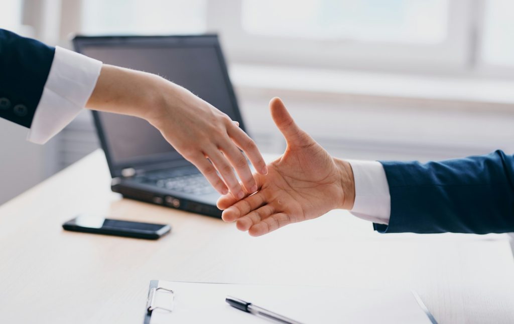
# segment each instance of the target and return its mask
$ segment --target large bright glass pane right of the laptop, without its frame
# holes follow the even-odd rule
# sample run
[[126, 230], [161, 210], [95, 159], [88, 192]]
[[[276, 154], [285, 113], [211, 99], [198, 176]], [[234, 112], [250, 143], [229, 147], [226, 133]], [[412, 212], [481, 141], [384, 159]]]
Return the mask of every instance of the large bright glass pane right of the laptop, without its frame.
[[255, 35], [437, 44], [446, 39], [449, 0], [243, 0], [243, 28]]

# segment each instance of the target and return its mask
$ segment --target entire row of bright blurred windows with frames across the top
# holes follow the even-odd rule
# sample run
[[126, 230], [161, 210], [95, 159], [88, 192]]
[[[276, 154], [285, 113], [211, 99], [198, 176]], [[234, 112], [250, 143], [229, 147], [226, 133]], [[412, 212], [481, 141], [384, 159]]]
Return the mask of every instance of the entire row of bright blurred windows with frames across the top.
[[512, 22], [511, 0], [3, 0], [0, 10], [0, 27], [64, 46], [72, 33], [217, 32], [230, 63], [506, 77]]

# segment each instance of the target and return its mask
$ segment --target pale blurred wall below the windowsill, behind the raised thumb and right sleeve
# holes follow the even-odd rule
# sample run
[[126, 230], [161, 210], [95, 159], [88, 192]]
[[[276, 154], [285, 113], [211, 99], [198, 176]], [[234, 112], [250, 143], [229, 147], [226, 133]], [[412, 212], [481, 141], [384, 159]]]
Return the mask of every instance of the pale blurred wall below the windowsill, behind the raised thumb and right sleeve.
[[[283, 151], [267, 103], [281, 96], [297, 123], [333, 155], [352, 159], [437, 160], [514, 152], [514, 106], [238, 89], [248, 131]], [[480, 106], [480, 105], [478, 105]]]

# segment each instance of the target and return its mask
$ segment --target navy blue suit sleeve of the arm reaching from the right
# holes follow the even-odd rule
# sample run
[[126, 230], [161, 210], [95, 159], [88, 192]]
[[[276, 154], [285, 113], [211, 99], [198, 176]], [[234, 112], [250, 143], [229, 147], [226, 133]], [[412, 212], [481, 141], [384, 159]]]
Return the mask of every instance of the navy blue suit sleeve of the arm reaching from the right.
[[514, 156], [502, 151], [439, 162], [380, 161], [391, 194], [382, 233], [514, 232]]

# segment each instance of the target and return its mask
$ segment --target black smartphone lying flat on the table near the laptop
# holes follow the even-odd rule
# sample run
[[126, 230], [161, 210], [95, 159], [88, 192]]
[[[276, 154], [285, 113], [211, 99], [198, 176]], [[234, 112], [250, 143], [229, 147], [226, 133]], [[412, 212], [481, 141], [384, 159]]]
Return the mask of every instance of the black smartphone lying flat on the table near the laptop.
[[158, 239], [171, 231], [169, 225], [80, 215], [63, 224], [67, 231]]

